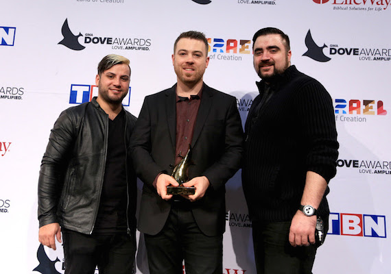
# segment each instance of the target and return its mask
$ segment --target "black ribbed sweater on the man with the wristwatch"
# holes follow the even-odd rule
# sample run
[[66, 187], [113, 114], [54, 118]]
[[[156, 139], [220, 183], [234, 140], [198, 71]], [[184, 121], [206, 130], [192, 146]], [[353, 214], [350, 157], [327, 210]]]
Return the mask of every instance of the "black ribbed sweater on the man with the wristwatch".
[[[263, 94], [265, 84], [257, 83]], [[257, 118], [254, 99], [246, 121], [242, 182], [253, 221], [290, 221], [300, 205], [307, 171], [335, 176], [337, 132], [333, 103], [316, 79], [290, 66]], [[318, 212], [327, 218], [326, 195]]]

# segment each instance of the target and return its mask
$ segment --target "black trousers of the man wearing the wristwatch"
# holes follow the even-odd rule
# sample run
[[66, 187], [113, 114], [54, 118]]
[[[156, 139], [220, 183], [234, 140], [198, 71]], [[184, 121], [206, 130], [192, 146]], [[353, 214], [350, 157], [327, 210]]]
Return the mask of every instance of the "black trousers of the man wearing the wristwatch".
[[[311, 274], [316, 247], [289, 244], [291, 222], [252, 223], [258, 274]], [[327, 231], [327, 230], [325, 230]]]

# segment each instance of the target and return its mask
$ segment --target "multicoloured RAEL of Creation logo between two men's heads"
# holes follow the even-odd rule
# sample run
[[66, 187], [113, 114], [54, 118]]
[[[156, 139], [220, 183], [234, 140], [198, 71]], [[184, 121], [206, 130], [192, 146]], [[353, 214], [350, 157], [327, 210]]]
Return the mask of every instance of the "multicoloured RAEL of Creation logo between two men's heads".
[[207, 38], [211, 60], [241, 61], [242, 56], [252, 53], [251, 40]]

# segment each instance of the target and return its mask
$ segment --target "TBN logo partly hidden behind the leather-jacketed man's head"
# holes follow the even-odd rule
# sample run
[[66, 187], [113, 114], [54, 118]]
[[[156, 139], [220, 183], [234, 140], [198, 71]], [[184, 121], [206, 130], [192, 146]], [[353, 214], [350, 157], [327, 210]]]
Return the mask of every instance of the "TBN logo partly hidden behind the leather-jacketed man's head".
[[[125, 98], [122, 100], [122, 105], [130, 105], [130, 90]], [[95, 85], [80, 85], [80, 84], [71, 84], [71, 92], [69, 96], [69, 103], [86, 103], [93, 99], [93, 97], [98, 95], [98, 87]]]

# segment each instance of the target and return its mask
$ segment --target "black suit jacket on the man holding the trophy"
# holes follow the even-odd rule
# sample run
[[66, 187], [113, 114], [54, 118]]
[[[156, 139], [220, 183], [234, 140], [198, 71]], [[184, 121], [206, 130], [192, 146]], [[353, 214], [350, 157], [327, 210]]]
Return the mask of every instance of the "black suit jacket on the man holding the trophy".
[[[243, 129], [236, 99], [223, 92], [202, 88], [202, 99], [195, 121], [193, 164], [189, 178], [206, 176], [210, 186], [202, 199], [191, 203], [201, 231], [208, 236], [225, 230], [225, 183], [239, 169]], [[134, 168], [143, 181], [139, 230], [155, 235], [161, 231], [171, 209], [153, 186], [159, 173], [171, 174], [176, 148], [176, 85], [145, 97], [132, 134]]]

